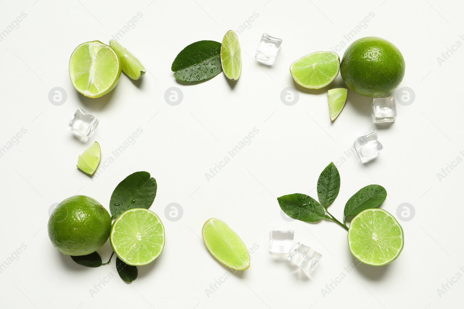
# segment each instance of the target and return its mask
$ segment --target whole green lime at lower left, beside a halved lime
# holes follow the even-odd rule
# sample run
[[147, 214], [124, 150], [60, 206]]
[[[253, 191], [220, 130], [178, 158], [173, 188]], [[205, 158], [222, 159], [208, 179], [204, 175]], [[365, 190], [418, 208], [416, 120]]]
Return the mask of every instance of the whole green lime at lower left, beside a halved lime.
[[48, 237], [64, 254], [86, 255], [105, 244], [110, 228], [110, 214], [99, 202], [74, 195], [59, 203], [50, 216]]

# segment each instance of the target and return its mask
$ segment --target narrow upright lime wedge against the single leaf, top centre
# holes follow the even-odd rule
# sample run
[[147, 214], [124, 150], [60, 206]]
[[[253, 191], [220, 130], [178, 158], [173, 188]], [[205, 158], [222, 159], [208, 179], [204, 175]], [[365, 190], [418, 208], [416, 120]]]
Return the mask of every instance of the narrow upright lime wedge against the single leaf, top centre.
[[232, 30], [229, 30], [222, 39], [221, 65], [228, 79], [238, 80], [242, 72], [242, 52], [237, 34]]

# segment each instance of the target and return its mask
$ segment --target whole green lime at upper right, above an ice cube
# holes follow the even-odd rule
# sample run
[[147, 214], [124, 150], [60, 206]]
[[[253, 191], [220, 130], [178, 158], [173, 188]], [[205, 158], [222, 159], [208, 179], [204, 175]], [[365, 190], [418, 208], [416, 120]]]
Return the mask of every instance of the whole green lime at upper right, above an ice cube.
[[345, 50], [340, 74], [347, 86], [360, 95], [386, 95], [403, 80], [405, 59], [386, 39], [360, 38]]

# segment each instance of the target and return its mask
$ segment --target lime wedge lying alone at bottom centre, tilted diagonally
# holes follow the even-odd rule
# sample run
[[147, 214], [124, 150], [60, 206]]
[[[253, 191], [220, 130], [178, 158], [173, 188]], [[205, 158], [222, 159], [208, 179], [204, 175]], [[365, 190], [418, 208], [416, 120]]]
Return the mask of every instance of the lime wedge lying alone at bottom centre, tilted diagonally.
[[208, 251], [222, 264], [242, 271], [250, 267], [250, 254], [243, 241], [224, 222], [211, 218], [201, 231]]

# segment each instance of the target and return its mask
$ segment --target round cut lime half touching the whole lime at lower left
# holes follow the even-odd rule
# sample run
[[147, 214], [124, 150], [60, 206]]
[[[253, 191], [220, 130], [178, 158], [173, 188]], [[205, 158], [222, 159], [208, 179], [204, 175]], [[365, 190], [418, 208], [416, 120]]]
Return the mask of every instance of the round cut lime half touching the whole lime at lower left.
[[110, 243], [127, 265], [147, 265], [163, 251], [164, 227], [154, 212], [145, 208], [129, 209], [114, 221]]

